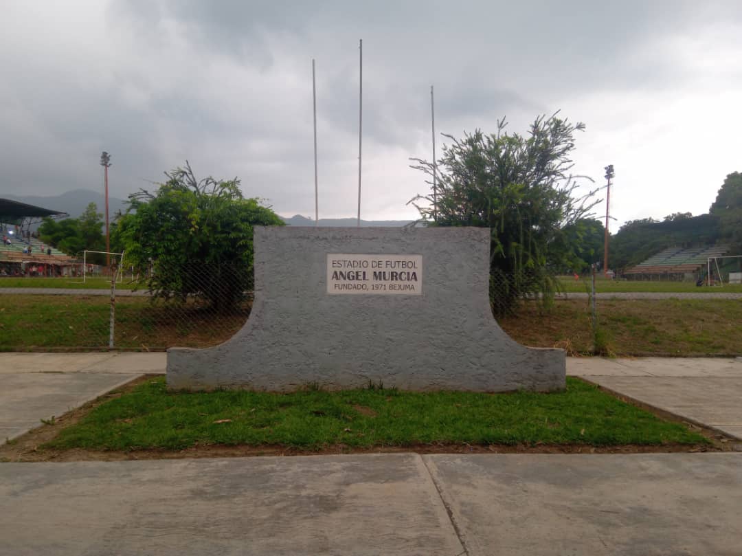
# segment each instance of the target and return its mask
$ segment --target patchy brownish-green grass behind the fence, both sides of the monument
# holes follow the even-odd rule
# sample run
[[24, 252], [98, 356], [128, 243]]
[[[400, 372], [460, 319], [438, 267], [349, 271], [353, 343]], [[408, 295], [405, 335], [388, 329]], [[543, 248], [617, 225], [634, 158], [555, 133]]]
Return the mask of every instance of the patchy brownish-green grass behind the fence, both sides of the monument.
[[[79, 350], [108, 346], [106, 295], [0, 295], [0, 350]], [[600, 299], [600, 327], [618, 356], [742, 354], [742, 300]], [[231, 338], [249, 315], [249, 302], [229, 315], [198, 304], [116, 301], [114, 346], [152, 350], [207, 347]], [[584, 299], [555, 301], [548, 310], [528, 301], [499, 318], [512, 338], [532, 347], [592, 348], [590, 307]]]

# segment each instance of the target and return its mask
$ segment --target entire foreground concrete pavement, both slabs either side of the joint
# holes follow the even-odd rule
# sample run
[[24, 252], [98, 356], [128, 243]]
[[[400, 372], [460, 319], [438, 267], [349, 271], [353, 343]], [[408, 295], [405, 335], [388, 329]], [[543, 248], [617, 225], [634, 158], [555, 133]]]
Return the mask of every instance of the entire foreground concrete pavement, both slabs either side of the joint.
[[0, 555], [740, 555], [742, 454], [0, 465]]

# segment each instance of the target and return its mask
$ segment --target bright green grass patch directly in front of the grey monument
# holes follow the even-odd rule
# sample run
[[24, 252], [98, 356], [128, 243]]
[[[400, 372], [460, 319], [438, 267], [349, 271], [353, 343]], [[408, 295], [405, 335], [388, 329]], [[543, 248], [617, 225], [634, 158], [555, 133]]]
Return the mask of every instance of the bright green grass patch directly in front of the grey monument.
[[579, 379], [562, 393], [414, 393], [363, 388], [294, 393], [171, 393], [151, 379], [94, 408], [43, 448], [128, 451], [196, 445], [281, 445], [316, 450], [420, 444], [701, 445], [665, 422]]

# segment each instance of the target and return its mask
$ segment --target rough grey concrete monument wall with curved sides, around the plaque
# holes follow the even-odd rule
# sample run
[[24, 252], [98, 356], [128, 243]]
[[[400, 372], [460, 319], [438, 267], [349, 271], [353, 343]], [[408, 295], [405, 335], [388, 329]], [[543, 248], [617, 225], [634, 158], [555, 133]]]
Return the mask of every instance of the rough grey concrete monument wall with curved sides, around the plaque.
[[[168, 350], [168, 387], [559, 390], [562, 350], [523, 347], [488, 300], [489, 231], [255, 229], [255, 303], [229, 341]], [[329, 295], [327, 255], [421, 255], [422, 295]]]

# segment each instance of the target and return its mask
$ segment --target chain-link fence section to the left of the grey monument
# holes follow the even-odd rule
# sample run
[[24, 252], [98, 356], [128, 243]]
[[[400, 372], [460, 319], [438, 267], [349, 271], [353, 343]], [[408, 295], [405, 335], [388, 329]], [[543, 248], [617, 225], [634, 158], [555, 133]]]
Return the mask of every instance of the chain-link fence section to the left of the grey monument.
[[155, 264], [116, 275], [5, 290], [0, 349], [208, 347], [234, 336], [252, 307], [252, 272], [229, 264]]

